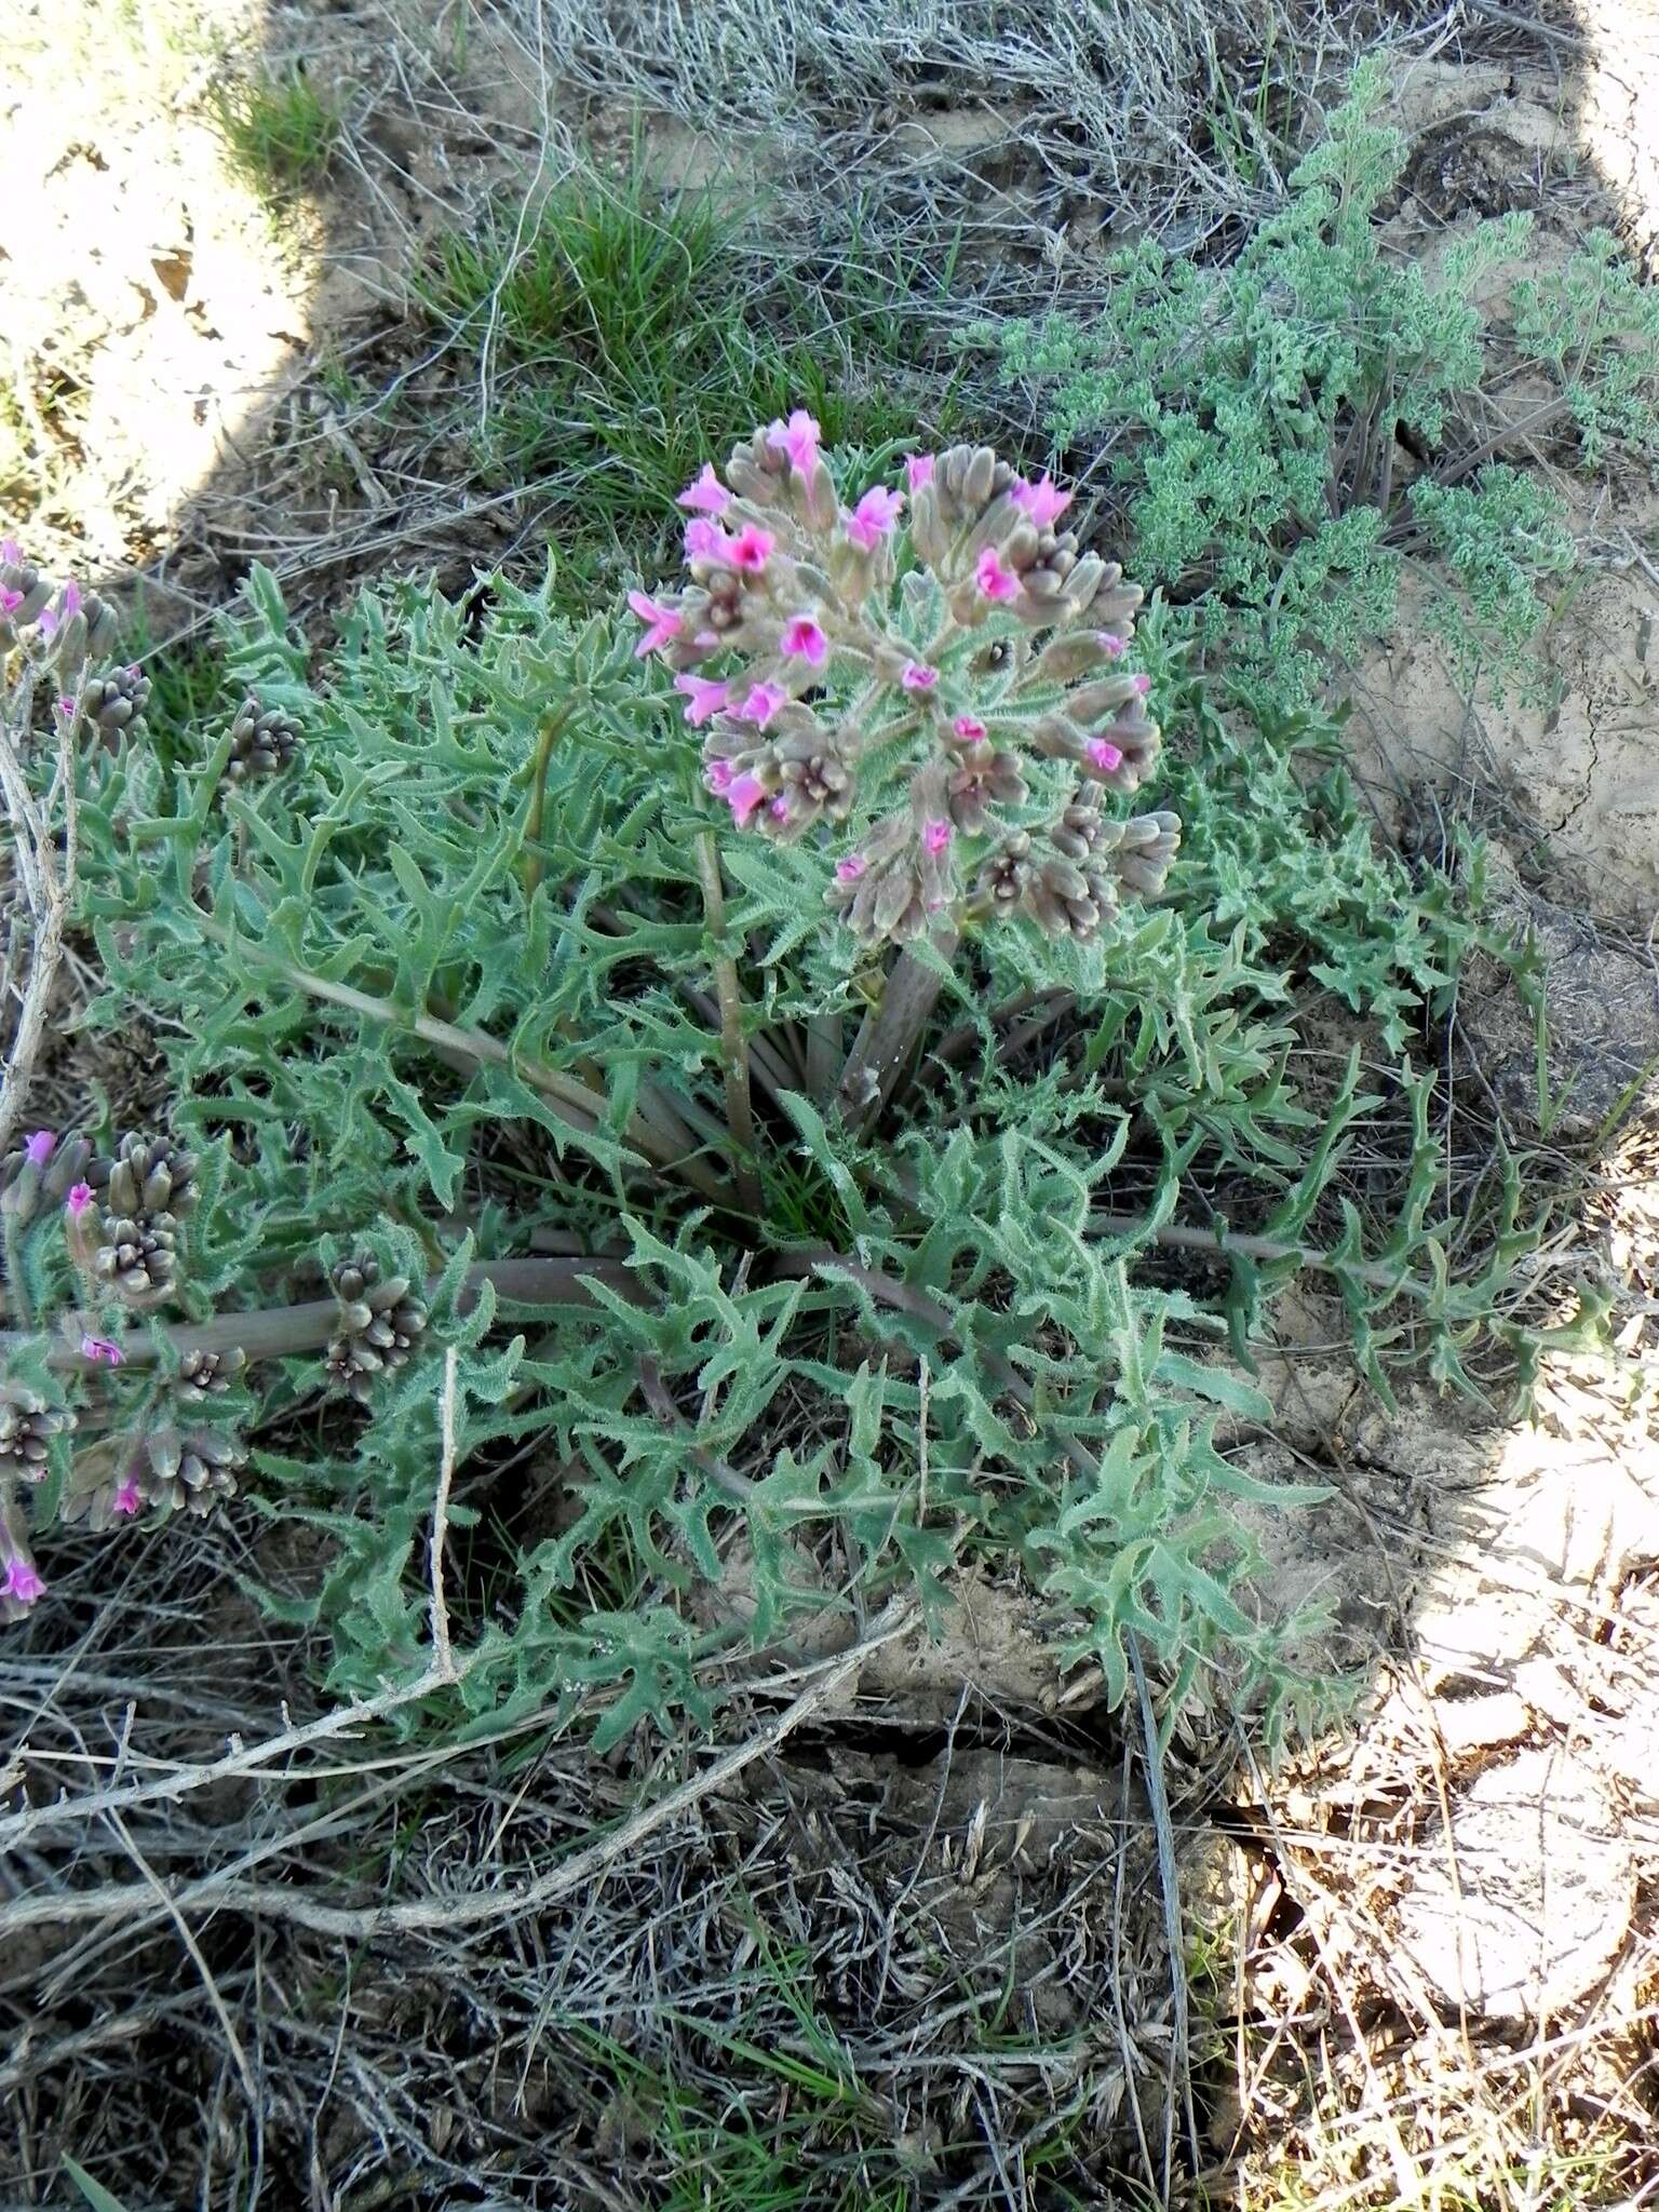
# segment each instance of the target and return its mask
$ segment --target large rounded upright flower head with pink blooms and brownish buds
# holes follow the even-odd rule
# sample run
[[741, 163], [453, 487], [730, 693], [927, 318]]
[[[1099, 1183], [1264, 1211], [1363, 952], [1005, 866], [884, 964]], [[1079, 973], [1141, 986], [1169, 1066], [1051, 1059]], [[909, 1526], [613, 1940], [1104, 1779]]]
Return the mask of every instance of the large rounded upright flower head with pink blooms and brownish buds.
[[867, 823], [827, 889], [867, 945], [998, 914], [1086, 940], [1164, 887], [1179, 821], [1099, 812], [1159, 757], [1141, 593], [1060, 526], [1071, 498], [958, 445], [847, 507], [796, 409], [679, 495], [686, 588], [628, 599], [739, 830]]

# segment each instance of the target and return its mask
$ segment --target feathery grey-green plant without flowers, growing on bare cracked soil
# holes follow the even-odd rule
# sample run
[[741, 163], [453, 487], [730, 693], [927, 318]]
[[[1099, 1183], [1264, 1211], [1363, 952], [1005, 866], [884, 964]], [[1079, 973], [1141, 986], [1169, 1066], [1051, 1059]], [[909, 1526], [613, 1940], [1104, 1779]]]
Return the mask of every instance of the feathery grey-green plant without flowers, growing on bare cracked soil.
[[1146, 241], [1106, 265], [1086, 323], [980, 330], [1060, 447], [1108, 456], [1137, 573], [1181, 602], [1225, 690], [1270, 712], [1394, 635], [1407, 553], [1451, 568], [1427, 619], [1460, 675], [1537, 692], [1573, 533], [1495, 456], [1551, 436], [1595, 469], [1608, 438], [1659, 447], [1659, 292], [1604, 232], [1515, 281], [1513, 367], [1551, 396], [1498, 394], [1482, 283], [1526, 254], [1531, 217], [1473, 223], [1436, 263], [1396, 254], [1380, 210], [1409, 148], [1376, 122], [1385, 91], [1383, 64], [1356, 73], [1230, 263]]

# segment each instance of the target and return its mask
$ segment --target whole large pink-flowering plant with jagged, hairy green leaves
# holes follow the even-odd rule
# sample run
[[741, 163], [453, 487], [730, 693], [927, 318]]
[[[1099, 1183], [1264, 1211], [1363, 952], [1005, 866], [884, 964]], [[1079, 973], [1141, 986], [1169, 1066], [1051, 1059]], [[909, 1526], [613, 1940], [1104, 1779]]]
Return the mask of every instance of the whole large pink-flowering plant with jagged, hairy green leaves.
[[1276, 1294], [1340, 1294], [1385, 1394], [1537, 1352], [1517, 1172], [1471, 1234], [1433, 1126], [1478, 854], [1374, 852], [1334, 726], [1223, 719], [987, 449], [872, 484], [796, 411], [681, 507], [686, 586], [622, 624], [383, 582], [314, 664], [257, 571], [192, 752], [4, 568], [80, 743], [93, 1020], [142, 1006], [173, 1084], [4, 1168], [7, 1606], [53, 1520], [241, 1482], [314, 1531], [268, 1601], [334, 1688], [416, 1679], [449, 1425], [476, 1717], [699, 1719], [708, 1661], [960, 1562], [1113, 1697], [1135, 1639], [1283, 1701], [1228, 1500], [1307, 1493], [1221, 1427]]

